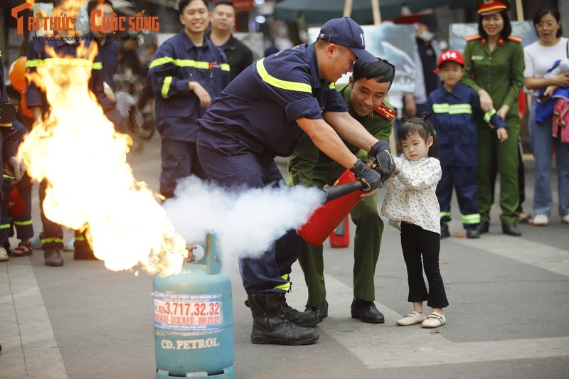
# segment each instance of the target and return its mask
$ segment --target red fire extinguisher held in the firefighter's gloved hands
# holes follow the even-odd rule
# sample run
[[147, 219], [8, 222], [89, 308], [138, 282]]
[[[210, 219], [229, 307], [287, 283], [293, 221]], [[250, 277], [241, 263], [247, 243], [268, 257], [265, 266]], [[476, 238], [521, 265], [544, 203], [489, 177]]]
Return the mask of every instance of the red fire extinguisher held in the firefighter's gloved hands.
[[[334, 198], [321, 205], [310, 216], [307, 223], [299, 229], [299, 235], [310, 245], [321, 245], [334, 231], [334, 228], [346, 218], [353, 207], [361, 201], [362, 183], [356, 179], [353, 172], [346, 170], [338, 178], [334, 186], [324, 188], [326, 193], [341, 193], [349, 191], [344, 196]], [[345, 188], [342, 190], [341, 188]], [[351, 190], [351, 191], [350, 191]]]

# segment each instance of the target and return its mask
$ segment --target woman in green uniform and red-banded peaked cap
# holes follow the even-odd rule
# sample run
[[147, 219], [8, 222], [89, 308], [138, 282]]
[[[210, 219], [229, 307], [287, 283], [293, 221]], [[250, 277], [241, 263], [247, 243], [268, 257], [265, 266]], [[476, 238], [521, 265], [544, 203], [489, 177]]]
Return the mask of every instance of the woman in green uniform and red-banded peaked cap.
[[477, 0], [477, 36], [467, 38], [464, 48], [462, 84], [480, 97], [484, 112], [496, 112], [508, 128], [496, 129], [478, 119], [478, 203], [480, 233], [489, 231], [491, 207], [491, 145], [496, 145], [500, 173], [500, 215], [502, 233], [519, 236], [516, 227], [519, 205], [518, 97], [523, 87], [523, 47], [521, 38], [511, 36], [509, 1]]

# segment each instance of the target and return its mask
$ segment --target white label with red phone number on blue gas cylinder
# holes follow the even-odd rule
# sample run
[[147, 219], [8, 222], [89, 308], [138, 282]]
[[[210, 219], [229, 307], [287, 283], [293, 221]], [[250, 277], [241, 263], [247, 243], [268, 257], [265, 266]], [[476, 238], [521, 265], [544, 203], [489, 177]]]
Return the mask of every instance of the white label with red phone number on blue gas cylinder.
[[154, 327], [167, 331], [221, 329], [221, 294], [154, 292]]

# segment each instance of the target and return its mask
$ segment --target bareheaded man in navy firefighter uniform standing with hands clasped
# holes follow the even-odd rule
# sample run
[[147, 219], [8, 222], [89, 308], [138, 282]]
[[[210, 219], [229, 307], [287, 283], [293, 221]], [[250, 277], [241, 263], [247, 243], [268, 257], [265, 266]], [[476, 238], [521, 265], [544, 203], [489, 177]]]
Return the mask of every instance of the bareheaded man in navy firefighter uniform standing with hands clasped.
[[206, 178], [196, 156], [196, 119], [230, 80], [227, 58], [205, 35], [208, 2], [181, 0], [178, 9], [184, 30], [156, 50], [149, 68], [162, 139], [160, 193], [165, 198], [174, 196], [181, 178]]

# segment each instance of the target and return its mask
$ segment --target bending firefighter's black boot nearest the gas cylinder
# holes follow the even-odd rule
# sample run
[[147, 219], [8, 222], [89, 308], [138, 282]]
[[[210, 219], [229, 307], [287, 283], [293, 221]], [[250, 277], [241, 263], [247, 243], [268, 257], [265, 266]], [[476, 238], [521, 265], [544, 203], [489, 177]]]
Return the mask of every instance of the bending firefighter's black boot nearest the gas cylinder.
[[314, 329], [292, 324], [285, 318], [282, 294], [252, 294], [248, 303], [253, 316], [252, 343], [297, 346], [318, 341]]

